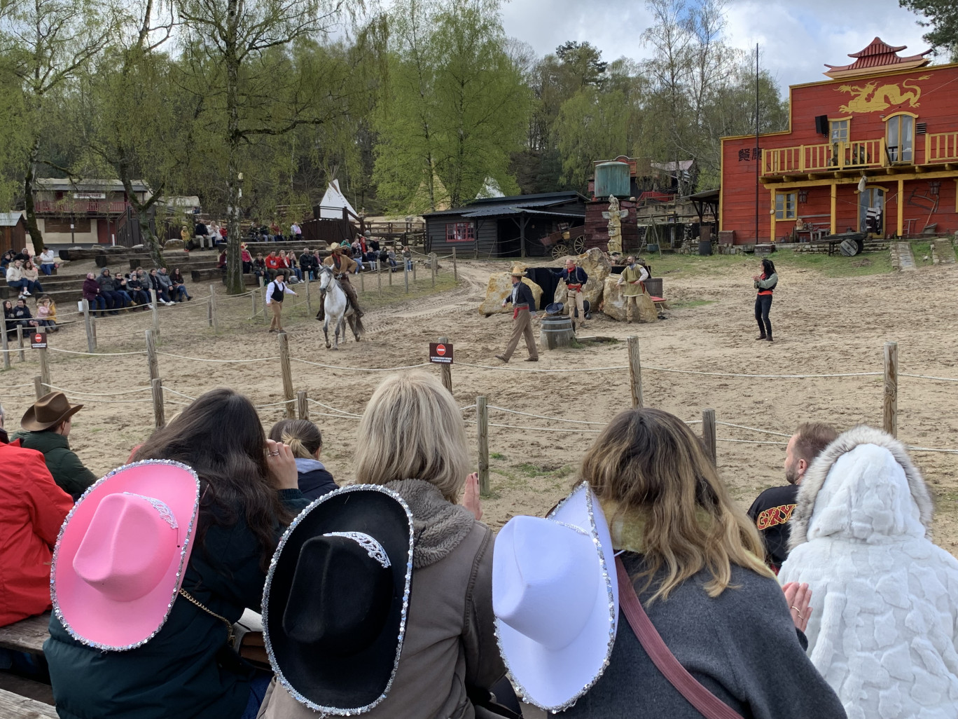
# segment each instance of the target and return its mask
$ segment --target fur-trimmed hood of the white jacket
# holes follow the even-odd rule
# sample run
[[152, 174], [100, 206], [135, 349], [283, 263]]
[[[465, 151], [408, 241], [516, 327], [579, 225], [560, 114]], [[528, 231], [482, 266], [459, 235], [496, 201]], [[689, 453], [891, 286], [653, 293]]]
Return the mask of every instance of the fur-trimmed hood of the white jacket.
[[819, 454], [802, 479], [788, 549], [840, 535], [874, 543], [877, 535], [924, 537], [931, 498], [904, 445], [859, 425]]

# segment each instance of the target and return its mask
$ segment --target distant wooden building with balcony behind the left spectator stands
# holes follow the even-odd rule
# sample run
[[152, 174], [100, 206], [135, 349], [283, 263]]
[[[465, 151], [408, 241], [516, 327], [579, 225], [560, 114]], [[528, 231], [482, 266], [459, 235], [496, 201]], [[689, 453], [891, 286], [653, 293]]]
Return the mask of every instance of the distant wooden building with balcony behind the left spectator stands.
[[[133, 193], [143, 201], [149, 188], [132, 181]], [[110, 244], [130, 207], [118, 179], [59, 179], [34, 181], [36, 223], [46, 244]]]

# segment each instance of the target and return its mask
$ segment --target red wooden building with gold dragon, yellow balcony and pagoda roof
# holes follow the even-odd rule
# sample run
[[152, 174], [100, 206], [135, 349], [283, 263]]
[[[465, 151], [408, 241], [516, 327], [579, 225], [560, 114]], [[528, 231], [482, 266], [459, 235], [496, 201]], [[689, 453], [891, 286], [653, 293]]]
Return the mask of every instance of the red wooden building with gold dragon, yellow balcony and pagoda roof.
[[786, 131], [722, 138], [719, 230], [735, 244], [958, 230], [958, 63], [904, 49], [876, 37], [789, 87]]

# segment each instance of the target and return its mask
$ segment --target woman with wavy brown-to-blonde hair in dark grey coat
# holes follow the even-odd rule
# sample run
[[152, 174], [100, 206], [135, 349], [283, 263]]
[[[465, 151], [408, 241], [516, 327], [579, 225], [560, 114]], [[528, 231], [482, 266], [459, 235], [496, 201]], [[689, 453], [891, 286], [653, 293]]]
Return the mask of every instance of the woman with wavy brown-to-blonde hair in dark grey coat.
[[[620, 607], [630, 579], [673, 657], [713, 698], [742, 717], [845, 716], [805, 655], [807, 588], [783, 593], [755, 526], [682, 420], [660, 409], [620, 413], [586, 452], [582, 479], [627, 571]], [[656, 668], [620, 611], [604, 674], [563, 715], [704, 714]]]

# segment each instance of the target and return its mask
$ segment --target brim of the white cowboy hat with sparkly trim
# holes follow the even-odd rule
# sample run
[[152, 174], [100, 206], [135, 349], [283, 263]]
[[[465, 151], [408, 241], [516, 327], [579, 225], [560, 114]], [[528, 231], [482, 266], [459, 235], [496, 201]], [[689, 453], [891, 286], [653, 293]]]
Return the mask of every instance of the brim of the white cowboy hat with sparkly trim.
[[[590, 561], [598, 581], [591, 612], [578, 637], [559, 649], [527, 637], [498, 616], [495, 630], [499, 652], [519, 696], [536, 707], [557, 712], [572, 706], [602, 677], [615, 642], [619, 588], [614, 573], [609, 573], [615, 570], [615, 553], [608, 524], [587, 483], [582, 482], [563, 499], [547, 520], [573, 527], [592, 539], [595, 552]], [[521, 547], [515, 549], [522, 551]], [[498, 554], [495, 558], [504, 559]], [[506, 589], [496, 587], [495, 576], [493, 569], [493, 605], [497, 594]]]

